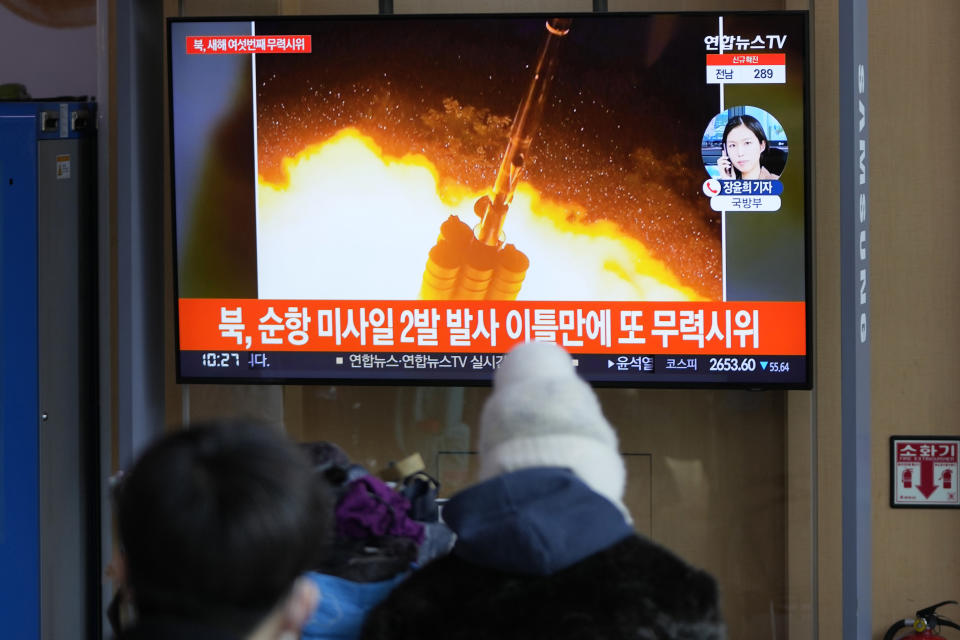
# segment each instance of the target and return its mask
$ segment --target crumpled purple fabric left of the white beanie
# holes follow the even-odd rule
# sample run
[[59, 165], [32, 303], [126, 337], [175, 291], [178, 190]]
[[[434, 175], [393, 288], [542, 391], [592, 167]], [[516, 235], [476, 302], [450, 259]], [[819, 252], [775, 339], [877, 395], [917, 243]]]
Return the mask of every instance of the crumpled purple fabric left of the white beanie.
[[410, 538], [423, 542], [423, 525], [407, 517], [410, 502], [375, 476], [352, 481], [337, 504], [337, 533], [366, 540], [379, 536]]

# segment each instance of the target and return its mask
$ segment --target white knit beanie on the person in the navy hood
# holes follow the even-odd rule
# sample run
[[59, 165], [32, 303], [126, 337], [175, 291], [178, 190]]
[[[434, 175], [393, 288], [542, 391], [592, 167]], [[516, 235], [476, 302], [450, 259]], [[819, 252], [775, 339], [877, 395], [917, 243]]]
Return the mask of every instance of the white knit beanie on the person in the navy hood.
[[480, 415], [479, 448], [482, 480], [529, 467], [568, 467], [630, 519], [617, 434], [556, 344], [518, 345], [500, 363]]

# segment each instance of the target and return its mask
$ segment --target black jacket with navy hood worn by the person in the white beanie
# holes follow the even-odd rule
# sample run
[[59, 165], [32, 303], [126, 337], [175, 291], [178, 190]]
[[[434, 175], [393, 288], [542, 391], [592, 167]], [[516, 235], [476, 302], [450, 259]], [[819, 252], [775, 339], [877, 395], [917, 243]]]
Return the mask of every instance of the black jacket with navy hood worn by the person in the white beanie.
[[460, 536], [454, 551], [374, 609], [364, 640], [725, 637], [713, 578], [632, 533], [567, 470], [500, 476], [444, 516]]

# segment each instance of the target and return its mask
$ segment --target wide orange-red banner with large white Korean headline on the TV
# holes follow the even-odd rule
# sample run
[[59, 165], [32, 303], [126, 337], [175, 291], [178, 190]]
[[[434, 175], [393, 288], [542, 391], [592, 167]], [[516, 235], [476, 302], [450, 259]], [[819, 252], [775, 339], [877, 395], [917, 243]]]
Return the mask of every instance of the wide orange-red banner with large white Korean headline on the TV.
[[181, 299], [185, 351], [804, 355], [802, 302]]

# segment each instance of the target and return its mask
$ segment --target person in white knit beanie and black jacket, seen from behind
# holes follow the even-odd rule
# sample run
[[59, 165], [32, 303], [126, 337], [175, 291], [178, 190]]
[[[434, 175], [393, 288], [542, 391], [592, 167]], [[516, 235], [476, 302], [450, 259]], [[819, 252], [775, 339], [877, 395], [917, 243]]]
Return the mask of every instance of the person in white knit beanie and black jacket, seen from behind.
[[481, 478], [457, 539], [365, 620], [361, 640], [723, 640], [714, 579], [634, 531], [617, 436], [567, 353], [514, 347], [480, 417]]

